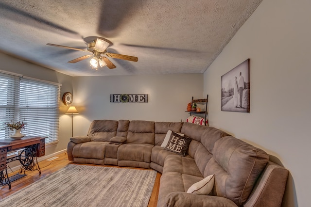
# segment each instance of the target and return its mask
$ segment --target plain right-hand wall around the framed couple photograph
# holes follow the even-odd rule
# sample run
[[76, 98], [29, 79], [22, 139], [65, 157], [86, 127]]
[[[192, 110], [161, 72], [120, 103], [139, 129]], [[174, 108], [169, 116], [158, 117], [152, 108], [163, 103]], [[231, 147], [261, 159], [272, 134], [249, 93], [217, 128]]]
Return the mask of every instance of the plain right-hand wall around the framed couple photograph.
[[[310, 206], [311, 1], [263, 0], [204, 74], [209, 124], [290, 171], [283, 206]], [[221, 76], [251, 59], [250, 113], [221, 111]]]

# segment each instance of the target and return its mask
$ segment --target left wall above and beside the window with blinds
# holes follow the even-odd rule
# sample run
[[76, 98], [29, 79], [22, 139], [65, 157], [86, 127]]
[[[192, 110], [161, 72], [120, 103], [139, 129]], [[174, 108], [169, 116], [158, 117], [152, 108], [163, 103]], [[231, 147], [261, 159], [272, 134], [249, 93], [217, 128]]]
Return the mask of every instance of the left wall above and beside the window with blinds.
[[[61, 96], [67, 91], [72, 92], [72, 80], [70, 76], [55, 72], [39, 65], [31, 64], [4, 53], [0, 53], [0, 63], [0, 70], [22, 74], [35, 79], [61, 83]], [[49, 145], [46, 148], [45, 155], [50, 155], [67, 148], [67, 144], [71, 136], [71, 117], [69, 115], [63, 115], [67, 109], [68, 107], [60, 102], [61, 118], [58, 133], [59, 142], [55, 145]]]

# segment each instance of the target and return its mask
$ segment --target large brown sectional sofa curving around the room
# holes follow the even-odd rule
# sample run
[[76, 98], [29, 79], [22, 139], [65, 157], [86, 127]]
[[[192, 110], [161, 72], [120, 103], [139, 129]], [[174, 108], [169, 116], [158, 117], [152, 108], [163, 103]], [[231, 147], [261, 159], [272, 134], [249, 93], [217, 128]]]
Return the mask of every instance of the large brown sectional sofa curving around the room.
[[[161, 147], [168, 130], [192, 140], [185, 157]], [[86, 136], [70, 138], [77, 163], [152, 168], [162, 173], [158, 207], [279, 207], [288, 170], [263, 150], [214, 127], [182, 122], [95, 120]], [[187, 193], [215, 175], [211, 193]]]

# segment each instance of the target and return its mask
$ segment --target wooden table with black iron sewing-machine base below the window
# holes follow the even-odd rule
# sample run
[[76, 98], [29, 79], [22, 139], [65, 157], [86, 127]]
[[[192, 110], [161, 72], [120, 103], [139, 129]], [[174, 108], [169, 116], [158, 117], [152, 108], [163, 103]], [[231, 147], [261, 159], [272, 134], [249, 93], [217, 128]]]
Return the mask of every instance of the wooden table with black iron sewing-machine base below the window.
[[[41, 170], [37, 161], [37, 157], [45, 154], [45, 138], [47, 137], [31, 137], [25, 136], [20, 140], [2, 139], [0, 140], [0, 184], [8, 185], [11, 189], [11, 182], [25, 176], [25, 171]], [[19, 155], [12, 158], [7, 158], [7, 153], [12, 150], [25, 148]], [[24, 175], [19, 174], [8, 177], [7, 163], [19, 160], [21, 167], [19, 172], [24, 172]]]

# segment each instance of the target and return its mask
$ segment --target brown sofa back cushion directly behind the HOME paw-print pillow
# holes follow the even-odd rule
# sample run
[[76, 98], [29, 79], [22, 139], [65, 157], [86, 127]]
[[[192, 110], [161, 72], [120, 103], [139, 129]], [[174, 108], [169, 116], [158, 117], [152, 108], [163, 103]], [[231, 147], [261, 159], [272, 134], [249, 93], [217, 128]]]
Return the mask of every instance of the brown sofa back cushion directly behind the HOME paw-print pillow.
[[183, 122], [155, 122], [155, 145], [161, 145], [168, 130], [180, 133]]

